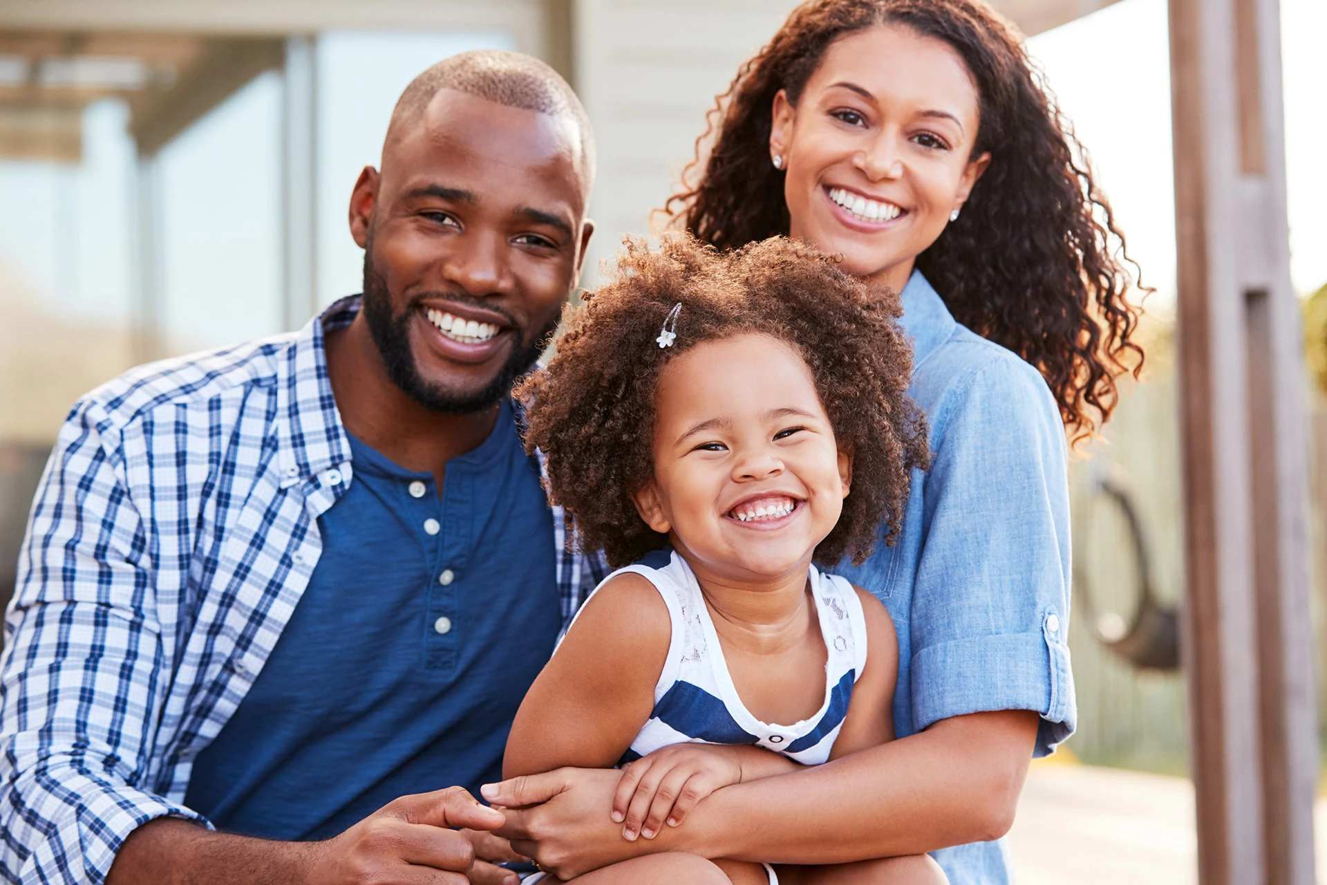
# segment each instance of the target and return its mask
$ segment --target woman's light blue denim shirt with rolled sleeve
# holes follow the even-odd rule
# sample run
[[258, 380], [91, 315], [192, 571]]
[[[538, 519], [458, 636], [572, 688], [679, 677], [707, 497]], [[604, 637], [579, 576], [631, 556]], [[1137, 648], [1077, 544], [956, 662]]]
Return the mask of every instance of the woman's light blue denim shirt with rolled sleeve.
[[[986, 710], [1036, 710], [1035, 755], [1074, 732], [1067, 444], [1042, 375], [959, 325], [920, 272], [902, 292], [910, 393], [930, 421], [902, 533], [839, 575], [898, 630], [894, 731]], [[1005, 840], [934, 852], [951, 885], [1011, 881]]]

